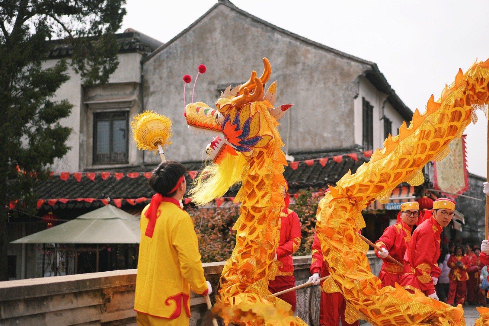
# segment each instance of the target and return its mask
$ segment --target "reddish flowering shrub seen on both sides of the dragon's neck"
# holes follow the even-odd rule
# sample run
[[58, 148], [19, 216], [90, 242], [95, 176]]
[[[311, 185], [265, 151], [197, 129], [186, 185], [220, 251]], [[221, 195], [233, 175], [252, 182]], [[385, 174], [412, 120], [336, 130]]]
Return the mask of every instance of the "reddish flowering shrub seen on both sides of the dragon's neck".
[[[320, 199], [311, 196], [311, 191], [300, 192], [295, 204], [289, 206], [299, 216], [302, 230], [301, 245], [294, 256], [311, 255], [315, 216]], [[236, 231], [232, 227], [240, 216], [240, 207], [232, 205], [198, 209], [187, 206], [185, 210], [194, 221], [202, 262], [225, 261], [231, 257], [236, 244]]]

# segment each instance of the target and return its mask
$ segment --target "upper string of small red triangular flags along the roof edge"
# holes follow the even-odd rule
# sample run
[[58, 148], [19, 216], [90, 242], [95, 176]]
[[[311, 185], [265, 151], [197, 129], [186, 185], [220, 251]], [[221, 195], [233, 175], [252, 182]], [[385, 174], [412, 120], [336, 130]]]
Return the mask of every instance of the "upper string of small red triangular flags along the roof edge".
[[[328, 156], [328, 157], [320, 157], [320, 158], [312, 158], [309, 160], [304, 160], [304, 161], [293, 161], [289, 162], [290, 168], [292, 170], [296, 170], [299, 167], [300, 163], [305, 163], [308, 166], [311, 166], [314, 164], [315, 161], [319, 161], [319, 164], [321, 164], [323, 167], [326, 166], [326, 163], [330, 159], [332, 159], [336, 163], [340, 163], [343, 158], [350, 157], [354, 161], [358, 161], [358, 154], [363, 154], [364, 157], [370, 157], [372, 156], [373, 151], [364, 151], [364, 152], [354, 152], [354, 153], [348, 153], [348, 154], [341, 154], [341, 155], [334, 155], [334, 156]], [[129, 178], [137, 178], [141, 175], [149, 179], [151, 177], [151, 172], [129, 172], [129, 173], [124, 173], [124, 172], [51, 172], [51, 176], [53, 175], [58, 175], [60, 176], [61, 180], [68, 180], [70, 176], [73, 176], [78, 182], [81, 181], [82, 177], [85, 175], [85, 177], [89, 178], [92, 181], [95, 181], [95, 176], [100, 175], [102, 177], [102, 180], [106, 180], [107, 178], [113, 176], [116, 180], [120, 180], [123, 177], [129, 177]], [[190, 176], [192, 180], [195, 179], [196, 175], [198, 174], [198, 171], [187, 171], [187, 174]]]

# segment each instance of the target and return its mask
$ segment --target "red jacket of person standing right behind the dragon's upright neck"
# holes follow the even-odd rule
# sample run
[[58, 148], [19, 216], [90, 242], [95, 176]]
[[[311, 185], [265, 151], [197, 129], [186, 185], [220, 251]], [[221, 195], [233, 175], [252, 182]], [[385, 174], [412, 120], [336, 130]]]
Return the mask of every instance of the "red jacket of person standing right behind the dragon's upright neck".
[[285, 208], [280, 212], [278, 232], [280, 232], [279, 245], [277, 247], [277, 276], [294, 275], [292, 254], [299, 249], [301, 244], [301, 222], [297, 213]]

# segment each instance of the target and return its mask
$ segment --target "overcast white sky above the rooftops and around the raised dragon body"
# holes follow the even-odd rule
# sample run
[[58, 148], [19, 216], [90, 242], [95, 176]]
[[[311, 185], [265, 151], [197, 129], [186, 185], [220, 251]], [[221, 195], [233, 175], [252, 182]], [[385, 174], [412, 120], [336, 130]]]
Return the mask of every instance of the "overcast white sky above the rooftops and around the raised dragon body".
[[[217, 0], [127, 0], [121, 31], [132, 27], [167, 42]], [[357, 57], [376, 62], [414, 110], [435, 99], [458, 68], [489, 58], [489, 1], [258, 1], [233, 0], [241, 9]], [[482, 113], [467, 130], [468, 170], [486, 176], [487, 124]]]

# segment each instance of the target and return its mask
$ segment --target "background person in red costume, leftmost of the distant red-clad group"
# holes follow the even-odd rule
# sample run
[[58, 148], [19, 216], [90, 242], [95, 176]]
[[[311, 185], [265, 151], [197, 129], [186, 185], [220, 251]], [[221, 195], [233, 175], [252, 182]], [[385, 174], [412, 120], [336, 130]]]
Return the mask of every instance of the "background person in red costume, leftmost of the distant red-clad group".
[[[470, 263], [467, 255], [464, 255], [464, 248], [461, 245], [455, 247], [455, 254], [448, 259], [450, 267], [450, 289], [448, 290], [447, 304], [464, 304], [467, 294], [467, 267]], [[456, 298], [455, 298], [456, 297]]]

